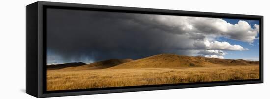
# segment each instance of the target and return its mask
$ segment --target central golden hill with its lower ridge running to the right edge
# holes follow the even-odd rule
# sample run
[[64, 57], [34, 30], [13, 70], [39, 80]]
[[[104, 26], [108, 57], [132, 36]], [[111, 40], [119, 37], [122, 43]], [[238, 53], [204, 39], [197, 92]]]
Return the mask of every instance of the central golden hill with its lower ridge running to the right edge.
[[258, 61], [243, 59], [219, 59], [199, 56], [184, 56], [176, 54], [159, 54], [132, 62], [120, 64], [109, 69], [120, 68], [187, 68], [187, 67], [215, 67], [215, 66], [240, 66], [259, 64]]

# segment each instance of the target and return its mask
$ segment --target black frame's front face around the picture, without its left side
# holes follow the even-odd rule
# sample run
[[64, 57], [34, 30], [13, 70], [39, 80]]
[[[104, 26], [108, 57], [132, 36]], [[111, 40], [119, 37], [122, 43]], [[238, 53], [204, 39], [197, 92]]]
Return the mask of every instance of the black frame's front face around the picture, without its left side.
[[[260, 80], [258, 81], [243, 81], [243, 82], [224, 82], [224, 83], [207, 83], [207, 84], [195, 84], [195, 85], [177, 85], [177, 86], [162, 86], [162, 87], [144, 87], [144, 88], [129, 88], [129, 89], [112, 89], [112, 90], [98, 90], [98, 91], [74, 91], [74, 92], [61, 92], [61, 93], [44, 93], [43, 91], [43, 6], [70, 6], [70, 7], [83, 7], [83, 8], [101, 8], [101, 9], [124, 9], [128, 11], [139, 10], [139, 11], [167, 11], [168, 13], [197, 13], [194, 15], [201, 14], [203, 16], [222, 16], [228, 15], [229, 17], [245, 17], [245, 18], [256, 18], [260, 20]], [[192, 14], [191, 14], [192, 15]], [[105, 94], [105, 93], [120, 93], [120, 92], [135, 92], [135, 91], [151, 91], [151, 90], [167, 90], [167, 89], [179, 89], [179, 88], [195, 88], [195, 87], [212, 87], [212, 86], [226, 86], [226, 85], [240, 85], [240, 84], [256, 84], [263, 83], [263, 16], [255, 15], [240, 15], [240, 14], [226, 14], [226, 13], [212, 13], [212, 12], [197, 12], [197, 11], [179, 11], [179, 10], [166, 10], [166, 9], [150, 9], [150, 8], [136, 8], [136, 7], [119, 7], [119, 6], [104, 6], [104, 5], [90, 5], [90, 4], [75, 4], [75, 3], [58, 3], [58, 2], [44, 2], [38, 1], [38, 96], [41, 97], [56, 97], [56, 96], [72, 96], [72, 95], [90, 95], [90, 94]]]

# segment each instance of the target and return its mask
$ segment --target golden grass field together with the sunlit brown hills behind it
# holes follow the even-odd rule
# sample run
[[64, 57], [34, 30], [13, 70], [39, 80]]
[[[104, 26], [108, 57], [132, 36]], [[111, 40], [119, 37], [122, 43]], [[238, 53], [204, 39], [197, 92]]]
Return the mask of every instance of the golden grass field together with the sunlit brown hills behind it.
[[[198, 61], [197, 58], [201, 60]], [[230, 63], [226, 63], [227, 61]], [[259, 79], [257, 63], [177, 55], [101, 61], [99, 65], [93, 63], [94, 65], [47, 70], [47, 90]], [[108, 68], [103, 68], [103, 65]]]

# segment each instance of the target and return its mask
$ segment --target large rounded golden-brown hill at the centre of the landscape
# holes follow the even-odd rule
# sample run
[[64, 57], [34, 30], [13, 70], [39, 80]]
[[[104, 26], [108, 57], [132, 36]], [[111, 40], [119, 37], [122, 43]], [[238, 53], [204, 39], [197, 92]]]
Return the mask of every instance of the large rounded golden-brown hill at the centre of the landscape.
[[203, 64], [206, 64], [205, 61], [202, 61], [202, 59], [199, 58], [196, 59], [196, 57], [175, 54], [159, 54], [120, 64], [110, 69], [201, 67]]

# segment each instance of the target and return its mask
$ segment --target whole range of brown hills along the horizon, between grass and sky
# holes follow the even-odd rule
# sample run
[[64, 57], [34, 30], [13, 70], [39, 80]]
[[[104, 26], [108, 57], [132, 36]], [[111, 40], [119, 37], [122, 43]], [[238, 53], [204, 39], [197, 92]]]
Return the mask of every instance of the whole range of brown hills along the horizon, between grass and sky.
[[[64, 70], [87, 70], [87, 69], [122, 69], [122, 68], [187, 68], [187, 67], [213, 67], [213, 66], [240, 66], [257, 65], [259, 61], [243, 59], [219, 59], [201, 56], [184, 56], [176, 54], [158, 54], [137, 60], [132, 59], [109, 59], [80, 66], [64, 67]], [[60, 65], [61, 66], [61, 65]], [[52, 66], [49, 66], [52, 67]], [[47, 67], [48, 69], [48, 67]], [[57, 68], [62, 69], [62, 68]]]

